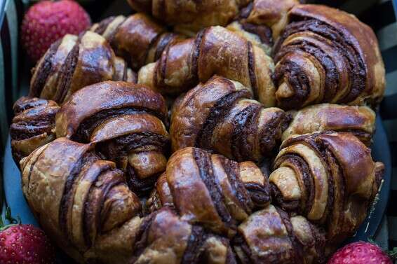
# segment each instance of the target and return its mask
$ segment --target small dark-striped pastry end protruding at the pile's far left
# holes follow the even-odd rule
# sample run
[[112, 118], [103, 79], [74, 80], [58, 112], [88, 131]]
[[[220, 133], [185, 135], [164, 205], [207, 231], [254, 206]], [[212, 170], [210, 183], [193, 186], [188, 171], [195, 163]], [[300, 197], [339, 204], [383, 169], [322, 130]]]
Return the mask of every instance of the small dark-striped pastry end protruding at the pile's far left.
[[39, 98], [21, 97], [13, 106], [15, 117], [10, 127], [11, 148], [17, 167], [39, 146], [53, 141], [57, 103]]

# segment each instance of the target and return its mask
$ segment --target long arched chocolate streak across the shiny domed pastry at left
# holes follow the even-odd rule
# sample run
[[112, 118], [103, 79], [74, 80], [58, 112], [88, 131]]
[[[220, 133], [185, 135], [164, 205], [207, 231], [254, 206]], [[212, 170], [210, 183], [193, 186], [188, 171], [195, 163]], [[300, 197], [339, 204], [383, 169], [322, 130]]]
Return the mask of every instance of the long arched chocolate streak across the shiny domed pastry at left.
[[99, 111], [93, 116], [90, 116], [83, 120], [77, 128], [76, 132], [72, 135], [72, 140], [88, 143], [90, 139], [90, 135], [102, 122], [107, 120], [108, 118], [114, 118], [116, 116], [121, 116], [125, 114], [133, 114], [133, 113], [149, 113], [153, 116], [156, 116], [160, 120], [163, 120], [163, 123], [166, 124], [166, 116], [161, 115], [161, 113], [157, 113], [156, 111], [152, 111], [151, 109], [142, 108], [134, 108], [134, 107], [125, 107], [121, 109], [105, 109]]

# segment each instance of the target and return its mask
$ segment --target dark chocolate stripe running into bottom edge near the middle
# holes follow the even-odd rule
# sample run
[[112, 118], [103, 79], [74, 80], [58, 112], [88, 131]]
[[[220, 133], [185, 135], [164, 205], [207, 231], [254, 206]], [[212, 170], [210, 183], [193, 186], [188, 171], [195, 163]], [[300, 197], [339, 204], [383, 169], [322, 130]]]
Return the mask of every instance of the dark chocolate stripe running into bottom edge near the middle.
[[199, 264], [203, 263], [203, 244], [206, 242], [207, 235], [201, 226], [193, 225], [191, 233], [184, 250], [181, 264]]

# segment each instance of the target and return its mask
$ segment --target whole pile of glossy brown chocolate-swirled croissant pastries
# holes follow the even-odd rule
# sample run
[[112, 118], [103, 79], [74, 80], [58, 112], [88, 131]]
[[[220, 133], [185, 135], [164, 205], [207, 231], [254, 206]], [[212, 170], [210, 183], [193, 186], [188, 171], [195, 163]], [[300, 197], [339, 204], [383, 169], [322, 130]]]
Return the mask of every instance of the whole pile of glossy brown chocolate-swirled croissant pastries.
[[382, 181], [372, 29], [297, 0], [128, 2], [15, 102], [41, 227], [78, 263], [324, 263]]

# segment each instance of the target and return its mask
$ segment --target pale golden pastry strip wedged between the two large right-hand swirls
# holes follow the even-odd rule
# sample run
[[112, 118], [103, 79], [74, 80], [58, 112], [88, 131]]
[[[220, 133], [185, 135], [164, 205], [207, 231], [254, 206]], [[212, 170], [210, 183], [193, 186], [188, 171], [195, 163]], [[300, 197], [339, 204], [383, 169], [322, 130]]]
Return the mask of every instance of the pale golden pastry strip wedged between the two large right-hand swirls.
[[375, 132], [375, 112], [368, 106], [315, 104], [288, 113], [292, 122], [283, 132], [283, 141], [292, 135], [332, 130], [350, 132], [369, 146]]

